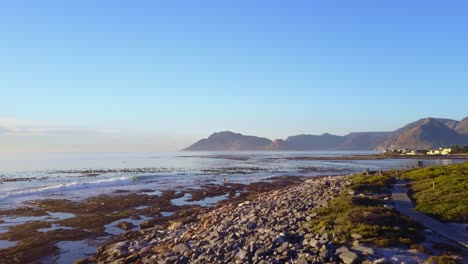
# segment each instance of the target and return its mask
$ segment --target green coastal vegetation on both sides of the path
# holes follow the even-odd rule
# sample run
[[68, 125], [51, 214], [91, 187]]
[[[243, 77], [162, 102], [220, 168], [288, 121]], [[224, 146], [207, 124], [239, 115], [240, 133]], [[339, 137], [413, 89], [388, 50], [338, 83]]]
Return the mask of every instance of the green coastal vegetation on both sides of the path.
[[[334, 197], [327, 208], [316, 209], [309, 222], [315, 230], [328, 230], [337, 241], [356, 237], [376, 246], [413, 245], [422, 241], [422, 226], [388, 206], [394, 173], [356, 174], [349, 177], [348, 191]], [[468, 221], [468, 162], [432, 166], [403, 172], [410, 180], [416, 209], [441, 221]], [[434, 189], [433, 189], [434, 186]]]

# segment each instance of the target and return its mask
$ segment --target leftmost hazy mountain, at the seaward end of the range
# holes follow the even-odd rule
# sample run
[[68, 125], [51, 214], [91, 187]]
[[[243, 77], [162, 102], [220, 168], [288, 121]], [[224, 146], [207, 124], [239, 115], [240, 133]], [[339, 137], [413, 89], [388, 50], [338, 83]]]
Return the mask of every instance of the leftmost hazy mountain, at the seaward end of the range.
[[214, 133], [208, 138], [199, 140], [184, 151], [222, 151], [222, 150], [265, 150], [273, 143], [267, 138], [244, 136], [242, 134], [223, 131]]

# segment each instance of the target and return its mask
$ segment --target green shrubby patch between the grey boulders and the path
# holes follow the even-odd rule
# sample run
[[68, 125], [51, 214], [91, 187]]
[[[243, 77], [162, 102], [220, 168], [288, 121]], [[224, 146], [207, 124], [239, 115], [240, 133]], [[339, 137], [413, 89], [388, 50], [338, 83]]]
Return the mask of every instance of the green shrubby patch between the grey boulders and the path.
[[385, 206], [394, 178], [390, 175], [353, 175], [349, 191], [316, 210], [309, 226], [328, 230], [341, 243], [353, 239], [376, 246], [412, 245], [422, 241], [422, 226]]

